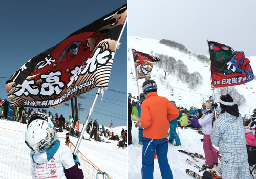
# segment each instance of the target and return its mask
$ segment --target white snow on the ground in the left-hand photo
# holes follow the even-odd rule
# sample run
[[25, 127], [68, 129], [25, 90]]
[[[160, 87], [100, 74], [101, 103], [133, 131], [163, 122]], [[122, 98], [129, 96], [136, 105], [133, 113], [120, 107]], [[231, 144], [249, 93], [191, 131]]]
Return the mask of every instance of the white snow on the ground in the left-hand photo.
[[[18, 123], [18, 122], [12, 122], [12, 121], [6, 121], [6, 120], [0, 120], [0, 126], [2, 128], [12, 129], [12, 130], [18, 130], [18, 131], [26, 131], [26, 124]], [[80, 126], [81, 127], [81, 126]], [[100, 126], [101, 127], [101, 126]], [[82, 127], [81, 127], [82, 128]], [[80, 128], [80, 129], [81, 129]], [[119, 126], [115, 128], [108, 128], [105, 127], [105, 129], [109, 129], [111, 132], [114, 132], [114, 135], [121, 136], [121, 130], [127, 129], [127, 126]], [[58, 137], [65, 138], [66, 131], [57, 133]], [[88, 133], [84, 135], [85, 138], [89, 138]], [[101, 137], [102, 139], [105, 139], [105, 141], [111, 141], [111, 143], [104, 143], [104, 142], [96, 142], [94, 140], [88, 141], [88, 140], [82, 140], [79, 151], [84, 154], [92, 163], [94, 163], [101, 171], [108, 173], [109, 176], [114, 178], [127, 178], [128, 168], [127, 168], [127, 147], [125, 148], [118, 148], [117, 143], [118, 141], [112, 141], [108, 140], [105, 137]], [[11, 138], [10, 138], [11, 140]], [[71, 142], [73, 142], [74, 145], [76, 145], [78, 138], [70, 136]], [[20, 139], [20, 141], [15, 141], [19, 143], [24, 143], [25, 141], [25, 133], [24, 137]], [[60, 140], [62, 144], [65, 144], [65, 140]], [[25, 144], [25, 143], [24, 143]], [[3, 146], [1, 146], [2, 148]], [[18, 146], [17, 146], [18, 147]], [[12, 151], [16, 151], [15, 146], [13, 146], [14, 149]], [[2, 150], [2, 149], [1, 149]], [[8, 150], [9, 152], [10, 150]], [[29, 154], [30, 149], [26, 146], [24, 148], [24, 152], [27, 152]], [[17, 159], [22, 158], [22, 154], [17, 154]], [[26, 153], [25, 153], [26, 154]], [[6, 156], [0, 152], [0, 159], [6, 158]], [[29, 155], [28, 155], [29, 158]], [[79, 159], [81, 160], [81, 159]], [[1, 160], [0, 160], [1, 161]], [[30, 159], [29, 159], [30, 161]], [[23, 164], [23, 165], [30, 165], [31, 164]], [[13, 170], [10, 170], [9, 172], [15, 172]], [[20, 176], [20, 175], [19, 175]], [[2, 176], [0, 174], [0, 178], [9, 178], [7, 176]], [[21, 178], [18, 177], [18, 178]], [[31, 176], [26, 176], [22, 178], [31, 178]]]

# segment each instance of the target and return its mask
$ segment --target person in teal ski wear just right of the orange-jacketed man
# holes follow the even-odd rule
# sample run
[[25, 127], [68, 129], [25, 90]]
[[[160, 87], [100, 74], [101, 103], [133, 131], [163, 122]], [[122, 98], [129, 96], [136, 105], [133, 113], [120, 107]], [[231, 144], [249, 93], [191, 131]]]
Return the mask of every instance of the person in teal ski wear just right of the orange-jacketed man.
[[[173, 105], [175, 105], [175, 101], [170, 101]], [[176, 105], [175, 105], [176, 107]], [[180, 114], [178, 116], [178, 118], [176, 119], [173, 119], [171, 121], [169, 121], [170, 123], [170, 136], [169, 136], [169, 143], [173, 144], [174, 140], [176, 142], [176, 144], [174, 144], [175, 146], [180, 146], [181, 143], [180, 143], [180, 138], [178, 136], [178, 134], [176, 133], [176, 128], [178, 126], [178, 119], [180, 119], [182, 117], [182, 113], [181, 111], [179, 110]]]

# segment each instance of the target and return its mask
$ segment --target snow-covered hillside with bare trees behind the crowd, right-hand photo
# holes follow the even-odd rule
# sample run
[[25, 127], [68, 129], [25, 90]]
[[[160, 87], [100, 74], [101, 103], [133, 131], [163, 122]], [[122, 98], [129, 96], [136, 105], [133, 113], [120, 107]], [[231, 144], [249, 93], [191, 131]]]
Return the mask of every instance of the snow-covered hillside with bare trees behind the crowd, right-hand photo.
[[[169, 46], [165, 46], [159, 43], [159, 40], [141, 38], [141, 37], [128, 37], [128, 92], [131, 92], [133, 96], [138, 95], [138, 88], [135, 77], [135, 68], [133, 63], [133, 56], [131, 48], [148, 53], [148, 54], [164, 54], [168, 56], [174, 57], [176, 60], [182, 60], [188, 66], [188, 72], [199, 72], [203, 76], [203, 81], [201, 84], [194, 87], [194, 89], [190, 89], [187, 83], [182, 81], [178, 81], [177, 77], [173, 74], [169, 74], [166, 76], [166, 80], [163, 83], [160, 82], [159, 76], [164, 76], [164, 69], [158, 68], [156, 65], [153, 66], [153, 70], [151, 72], [151, 79], [155, 80], [158, 85], [158, 94], [160, 96], [165, 96], [169, 100], [174, 100], [177, 106], [183, 106], [189, 108], [190, 106], [195, 106], [197, 108], [202, 107], [202, 101], [208, 100], [209, 96], [212, 95], [211, 92], [211, 84], [210, 84], [210, 72], [209, 72], [209, 64], [201, 63], [195, 57], [184, 54], [178, 50], [172, 49]], [[208, 52], [205, 52], [207, 54]], [[256, 71], [256, 56], [255, 57], [247, 57], [250, 60], [250, 65], [252, 69]], [[161, 60], [161, 59], [160, 59]], [[131, 74], [131, 72], [133, 74]], [[142, 84], [145, 80], [138, 80], [139, 90], [142, 92]], [[166, 86], [170, 87], [166, 87]], [[235, 86], [240, 94], [243, 94], [246, 99], [246, 104], [239, 106], [240, 113], [244, 114], [252, 114], [253, 109], [256, 108], [256, 80], [252, 80], [251, 82], [246, 83], [246, 85]], [[171, 96], [171, 92], [173, 89], [174, 96]], [[180, 95], [179, 95], [180, 94]], [[181, 100], [179, 100], [179, 96]], [[215, 90], [215, 99], [218, 101], [219, 96], [217, 96], [217, 92]]]

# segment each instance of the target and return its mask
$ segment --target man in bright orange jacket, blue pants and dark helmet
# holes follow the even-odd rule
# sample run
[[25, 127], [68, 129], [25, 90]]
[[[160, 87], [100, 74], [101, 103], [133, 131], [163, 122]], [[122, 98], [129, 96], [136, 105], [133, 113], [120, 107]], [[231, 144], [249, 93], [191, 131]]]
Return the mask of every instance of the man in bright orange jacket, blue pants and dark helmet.
[[154, 153], [163, 179], [172, 179], [173, 174], [168, 164], [168, 130], [169, 121], [179, 116], [179, 110], [170, 101], [157, 95], [157, 84], [154, 80], [143, 83], [146, 99], [141, 105], [141, 118], [138, 126], [143, 130], [142, 179], [152, 179], [154, 172]]

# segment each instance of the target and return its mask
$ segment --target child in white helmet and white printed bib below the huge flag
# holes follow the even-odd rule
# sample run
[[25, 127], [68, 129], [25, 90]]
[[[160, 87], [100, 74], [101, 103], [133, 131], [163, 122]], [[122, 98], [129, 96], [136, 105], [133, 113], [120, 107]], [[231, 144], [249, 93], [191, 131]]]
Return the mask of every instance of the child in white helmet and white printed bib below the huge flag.
[[83, 178], [77, 156], [60, 144], [54, 125], [45, 114], [37, 112], [29, 117], [25, 143], [31, 149], [32, 178]]

